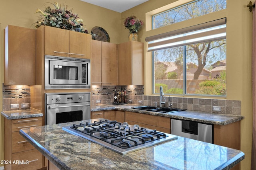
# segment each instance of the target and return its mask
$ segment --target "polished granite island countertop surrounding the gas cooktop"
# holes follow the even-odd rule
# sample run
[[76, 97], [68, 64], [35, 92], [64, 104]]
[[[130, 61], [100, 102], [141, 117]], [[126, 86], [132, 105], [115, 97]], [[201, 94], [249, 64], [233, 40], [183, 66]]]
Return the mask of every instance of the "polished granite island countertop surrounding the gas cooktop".
[[[94, 119], [92, 119], [94, 120]], [[74, 136], [73, 134], [69, 134], [68, 132], [64, 132], [62, 130], [62, 126], [66, 126], [69, 125], [69, 123], [61, 123], [58, 124], [57, 126], [52, 126], [52, 125], [48, 125], [48, 126], [42, 126], [42, 127], [33, 127], [33, 128], [26, 128], [26, 129], [21, 129], [19, 131], [20, 135], [22, 135], [22, 137], [24, 137], [26, 140], [29, 141], [29, 143], [31, 143], [37, 150], [39, 150], [48, 160], [50, 160], [55, 166], [57, 166], [60, 170], [71, 170], [71, 169], [82, 169], [81, 167], [85, 167], [84, 169], [86, 169], [86, 167], [90, 167], [92, 169], [95, 168], [109, 168], [109, 164], [102, 164], [102, 162], [100, 163], [100, 161], [103, 159], [107, 159], [108, 163], [111, 163], [111, 161], [113, 161], [111, 163], [111, 165], [115, 165], [117, 162], [122, 162], [122, 159], [124, 158], [128, 158], [129, 157], [129, 161], [134, 161], [135, 163], [140, 163], [140, 161], [144, 161], [144, 159], [140, 158], [144, 158], [144, 156], [148, 156], [149, 160], [146, 161], [145, 164], [142, 164], [143, 166], [145, 165], [145, 167], [149, 168], [149, 167], [155, 167], [158, 169], [165, 169], [165, 168], [161, 168], [161, 166], [155, 165], [154, 164], [154, 155], [158, 155], [158, 152], [154, 152], [154, 147], [157, 147], [158, 150], [159, 149], [166, 149], [166, 147], [170, 147], [170, 146], [183, 146], [184, 145], [184, 141], [183, 140], [188, 140], [186, 143], [186, 146], [184, 145], [185, 150], [187, 149], [198, 149], [201, 150], [200, 148], [194, 148], [194, 146], [202, 144], [203, 146], [205, 145], [205, 147], [210, 147], [212, 148], [212, 146], [214, 146], [214, 144], [210, 144], [210, 143], [204, 143], [201, 141], [196, 141], [196, 140], [192, 140], [192, 139], [187, 139], [187, 138], [183, 138], [183, 137], [178, 137], [177, 140], [174, 141], [168, 141], [166, 143], [162, 143], [159, 145], [164, 145], [164, 147], [160, 147], [159, 145], [154, 145], [152, 147], [148, 147], [142, 150], [137, 150], [136, 152], [130, 152], [128, 154], [124, 154], [124, 155], [119, 155], [118, 153], [107, 149], [105, 147], [102, 147], [101, 145], [98, 145], [96, 143], [92, 143], [90, 141], [88, 141], [87, 139], [83, 139], [82, 137], [79, 136]], [[49, 130], [46, 131], [46, 128], [48, 128]], [[31, 130], [33, 129], [33, 130]], [[52, 137], [52, 135], [55, 134], [57, 136], [57, 138], [49, 138]], [[61, 136], [59, 136], [59, 134], [62, 134]], [[58, 137], [61, 137], [61, 141], [62, 143], [58, 143], [57, 141], [59, 140]], [[56, 142], [54, 142], [56, 141]], [[177, 142], [175, 142], [177, 141]], [[190, 141], [190, 142], [189, 142]], [[74, 146], [69, 146], [70, 142], [74, 145]], [[192, 142], [192, 143], [191, 143]], [[40, 144], [42, 143], [42, 144]], [[176, 144], [175, 144], [176, 143]], [[81, 146], [87, 146], [87, 144], [90, 145], [90, 147], [92, 148], [91, 150], [89, 150], [88, 152], [84, 152], [87, 153], [88, 155], [83, 155], [81, 154], [81, 149], [83, 150], [83, 148], [80, 148]], [[45, 146], [46, 145], [46, 146]], [[216, 145], [218, 146], [218, 145]], [[47, 148], [45, 147], [49, 147], [50, 149], [52, 149], [51, 151], [49, 151]], [[160, 147], [160, 148], [159, 148]], [[221, 146], [218, 146], [221, 147]], [[72, 149], [70, 149], [72, 148]], [[176, 148], [176, 147], [175, 147]], [[213, 147], [212, 149], [214, 149], [215, 147]], [[218, 167], [216, 169], [222, 169], [222, 170], [229, 170], [230, 168], [234, 167], [236, 164], [238, 164], [239, 162], [241, 162], [244, 158], [245, 155], [243, 152], [241, 152], [240, 150], [235, 150], [235, 149], [229, 149], [226, 147], [221, 147], [223, 149], [227, 149], [227, 155], [228, 156], [228, 160], [227, 162], [222, 162], [220, 164], [218, 164]], [[70, 149], [70, 150], [69, 150]], [[208, 148], [209, 149], [209, 148]], [[101, 150], [100, 152], [98, 152], [99, 150]], [[171, 148], [172, 150], [172, 148]], [[204, 150], [204, 149], [203, 149]], [[179, 149], [174, 149], [173, 152], [180, 152]], [[209, 150], [210, 151], [210, 150]], [[238, 152], [239, 151], [239, 152]], [[70, 164], [67, 162], [66, 160], [66, 156], [70, 156], [72, 155], [74, 152], [74, 154], [78, 154], [77, 156], [75, 156], [74, 158], [70, 158], [69, 161], [72, 162], [76, 162], [78, 160], [87, 160], [88, 158], [92, 158], [92, 162], [87, 162], [86, 164], [82, 163], [82, 162], [77, 162], [77, 167], [73, 167], [74, 164]], [[184, 152], [184, 150], [182, 151]], [[198, 152], [199, 153], [199, 152]], [[101, 157], [94, 157], [94, 154], [96, 156], [104, 156], [104, 158]], [[162, 154], [162, 152], [161, 152]], [[207, 156], [208, 153], [205, 153]], [[116, 155], [120, 156], [116, 157]], [[153, 157], [152, 157], [153, 155]], [[174, 154], [176, 155], [176, 154]], [[111, 156], [108, 159], [108, 156]], [[128, 156], [128, 157], [127, 157]], [[209, 155], [208, 155], [209, 156]], [[200, 158], [200, 157], [198, 157]], [[200, 160], [200, 159], [199, 159]], [[207, 159], [206, 159], [207, 160]], [[124, 161], [123, 163], [128, 163], [129, 161]], [[151, 162], [153, 161], [153, 162]], [[173, 160], [174, 161], [174, 160]], [[177, 160], [176, 160], [177, 161]], [[216, 160], [218, 162], [218, 160]], [[100, 163], [97, 164], [96, 166], [94, 166], [94, 164], [90, 164], [90, 163]], [[180, 160], [178, 160], [178, 162], [180, 162]], [[183, 161], [182, 161], [183, 162]], [[198, 163], [198, 162], [197, 162]], [[175, 164], [175, 161], [174, 161]], [[178, 163], [177, 163], [178, 164]], [[169, 164], [168, 164], [169, 165]], [[92, 166], [92, 167], [91, 167]], [[126, 164], [123, 164], [121, 167], [124, 168], [126, 166]], [[142, 166], [139, 166], [140, 168]], [[169, 167], [169, 166], [168, 166]], [[211, 166], [209, 166], [211, 167]], [[120, 168], [120, 167], [119, 167]], [[114, 167], [113, 169], [119, 169], [118, 167]], [[214, 168], [214, 169], [215, 169]]]

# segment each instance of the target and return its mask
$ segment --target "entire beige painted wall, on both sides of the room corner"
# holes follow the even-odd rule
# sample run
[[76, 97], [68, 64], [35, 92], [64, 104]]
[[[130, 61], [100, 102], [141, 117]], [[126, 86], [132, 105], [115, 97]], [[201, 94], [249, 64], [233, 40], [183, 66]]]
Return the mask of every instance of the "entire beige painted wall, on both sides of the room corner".
[[[146, 24], [150, 23], [150, 15], [145, 16], [152, 10], [166, 6], [172, 2], [176, 4], [184, 3], [188, 0], [149, 0], [140, 6], [127, 10], [123, 13], [113, 12], [104, 8], [87, 4], [80, 0], [65, 0], [64, 2], [74, 8], [73, 12], [79, 12], [80, 18], [88, 31], [94, 26], [106, 29], [110, 35], [110, 42], [122, 43], [128, 41], [128, 29], [124, 29], [124, 18], [134, 15], [143, 20]], [[38, 14], [34, 14], [37, 8], [44, 10], [44, 3], [48, 0], [2, 0], [0, 5], [0, 83], [3, 82], [3, 29], [9, 25], [21, 27], [31, 27], [32, 23], [38, 19]], [[63, 2], [63, 3], [64, 3]], [[59, 2], [60, 3], [60, 2]], [[227, 9], [216, 12], [208, 16], [202, 16], [190, 21], [177, 23], [157, 30], [150, 30], [150, 27], [143, 27], [138, 33], [139, 41], [145, 42], [145, 37], [179, 29], [201, 23], [208, 20], [227, 17], [227, 99], [241, 100], [242, 115], [245, 119], [241, 121], [241, 150], [246, 154], [241, 162], [241, 169], [250, 169], [251, 141], [252, 141], [252, 89], [251, 89], [251, 51], [252, 51], [252, 13], [246, 5], [248, 0], [227, 0]], [[46, 4], [48, 5], [48, 4]], [[50, 4], [49, 4], [50, 6]], [[170, 8], [170, 5], [163, 7]], [[156, 10], [157, 11], [157, 10]], [[146, 18], [147, 17], [147, 18]], [[147, 31], [146, 31], [147, 29]], [[145, 47], [147, 45], [145, 44]], [[151, 56], [145, 49], [145, 95], [152, 95], [151, 78]], [[0, 84], [0, 96], [2, 96], [2, 85]], [[2, 110], [2, 100], [0, 100], [0, 110]], [[0, 160], [4, 160], [4, 127], [3, 117], [0, 117]]]

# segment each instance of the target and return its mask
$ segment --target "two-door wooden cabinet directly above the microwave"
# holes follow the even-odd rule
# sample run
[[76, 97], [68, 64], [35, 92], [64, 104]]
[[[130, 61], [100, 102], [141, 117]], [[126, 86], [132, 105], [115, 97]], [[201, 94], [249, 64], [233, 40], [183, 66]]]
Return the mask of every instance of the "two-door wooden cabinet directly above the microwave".
[[45, 54], [90, 59], [91, 39], [90, 34], [45, 26]]

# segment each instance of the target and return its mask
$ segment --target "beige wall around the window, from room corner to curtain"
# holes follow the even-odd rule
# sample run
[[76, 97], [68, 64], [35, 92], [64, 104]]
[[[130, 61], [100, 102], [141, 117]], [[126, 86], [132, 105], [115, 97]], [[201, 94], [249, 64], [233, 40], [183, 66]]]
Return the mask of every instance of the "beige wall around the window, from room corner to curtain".
[[[158, 8], [170, 8], [172, 2], [185, 3], [187, 0], [150, 0], [144, 4], [122, 13], [122, 18], [131, 14], [143, 21], [150, 23], [150, 14], [160, 12]], [[240, 100], [241, 112], [245, 117], [241, 121], [241, 150], [245, 153], [245, 159], [241, 162], [241, 169], [250, 169], [252, 146], [252, 88], [251, 88], [251, 55], [252, 55], [252, 13], [246, 7], [248, 0], [227, 0], [227, 9], [215, 12], [207, 16], [194, 18], [170, 26], [150, 30], [144, 27], [138, 33], [139, 40], [145, 42], [148, 36], [188, 27], [219, 18], [227, 18], [227, 100]], [[167, 5], [167, 6], [166, 6]], [[166, 7], [164, 7], [166, 6]], [[154, 12], [151, 12], [155, 10]], [[160, 9], [161, 10], [161, 9]], [[145, 14], [148, 14], [145, 16]], [[147, 31], [146, 31], [147, 30]], [[128, 30], [121, 29], [120, 42], [127, 41]], [[145, 47], [147, 47], [145, 43]], [[145, 86], [144, 94], [152, 95], [152, 58], [145, 48]], [[196, 96], [194, 96], [196, 97]]]

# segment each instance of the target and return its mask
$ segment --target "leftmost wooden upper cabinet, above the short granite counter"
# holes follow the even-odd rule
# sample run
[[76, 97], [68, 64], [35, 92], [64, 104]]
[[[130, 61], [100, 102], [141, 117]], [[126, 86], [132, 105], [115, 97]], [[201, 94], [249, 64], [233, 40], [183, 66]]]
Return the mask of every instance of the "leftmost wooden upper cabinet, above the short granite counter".
[[4, 34], [4, 85], [35, 85], [36, 30], [8, 25]]

